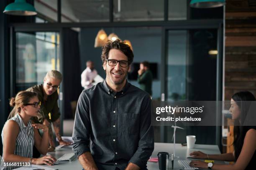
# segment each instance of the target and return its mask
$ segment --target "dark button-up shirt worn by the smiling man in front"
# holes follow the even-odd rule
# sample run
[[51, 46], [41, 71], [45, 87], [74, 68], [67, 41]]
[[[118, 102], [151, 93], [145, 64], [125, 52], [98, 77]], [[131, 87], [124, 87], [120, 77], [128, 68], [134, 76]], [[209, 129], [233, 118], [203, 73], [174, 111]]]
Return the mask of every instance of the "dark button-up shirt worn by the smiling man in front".
[[91, 152], [100, 170], [123, 170], [128, 163], [146, 169], [154, 150], [148, 93], [129, 82], [115, 93], [106, 80], [83, 90], [72, 137], [74, 154]]

